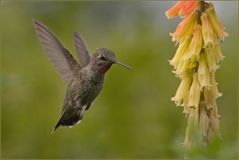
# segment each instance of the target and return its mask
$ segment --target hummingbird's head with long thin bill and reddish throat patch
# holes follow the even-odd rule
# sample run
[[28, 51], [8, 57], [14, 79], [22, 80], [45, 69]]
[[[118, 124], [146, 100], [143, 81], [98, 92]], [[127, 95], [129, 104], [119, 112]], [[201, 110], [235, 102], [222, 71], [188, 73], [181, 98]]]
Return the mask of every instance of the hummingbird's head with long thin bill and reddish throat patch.
[[92, 62], [101, 74], [107, 72], [112, 64], [119, 64], [131, 70], [131, 67], [117, 61], [114, 52], [107, 48], [97, 48], [92, 56]]

